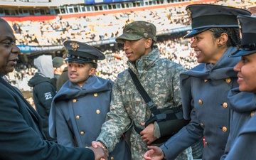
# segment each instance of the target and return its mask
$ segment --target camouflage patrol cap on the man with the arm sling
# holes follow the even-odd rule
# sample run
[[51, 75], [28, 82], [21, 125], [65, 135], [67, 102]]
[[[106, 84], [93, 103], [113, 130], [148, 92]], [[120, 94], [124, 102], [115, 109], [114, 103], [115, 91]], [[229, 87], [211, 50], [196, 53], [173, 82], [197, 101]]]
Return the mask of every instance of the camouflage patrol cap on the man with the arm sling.
[[146, 21], [134, 21], [124, 27], [122, 35], [116, 41], [122, 43], [124, 40], [137, 41], [141, 38], [151, 38], [156, 42], [156, 26]]

